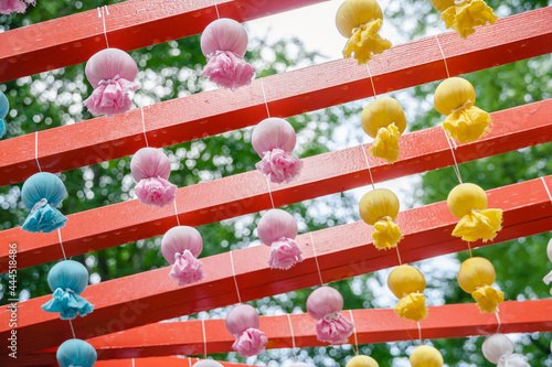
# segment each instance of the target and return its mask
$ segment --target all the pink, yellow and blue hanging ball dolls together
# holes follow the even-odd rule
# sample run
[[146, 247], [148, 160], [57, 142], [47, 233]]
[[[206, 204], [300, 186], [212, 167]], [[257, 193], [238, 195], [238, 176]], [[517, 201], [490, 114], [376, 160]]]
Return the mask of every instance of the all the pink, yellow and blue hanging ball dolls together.
[[[443, 12], [442, 18], [447, 28], [453, 28], [463, 37], [471, 34], [474, 26], [482, 25], [487, 21], [493, 23], [497, 19], [490, 8], [480, 0], [467, 0], [460, 3], [436, 0], [432, 2]], [[13, 3], [21, 9], [24, 1], [15, 0]], [[0, 8], [0, 11], [6, 9]], [[354, 55], [359, 64], [362, 64], [371, 60], [372, 55], [389, 48], [391, 43], [378, 34], [381, 25], [382, 11], [375, 1], [346, 1], [337, 14], [339, 32], [350, 37], [343, 55], [346, 57]], [[247, 34], [240, 23], [230, 19], [214, 21], [208, 25], [201, 37], [201, 48], [208, 58], [203, 75], [217, 85], [231, 89], [251, 84], [255, 71], [243, 58], [246, 47]], [[92, 96], [84, 101], [91, 114], [110, 117], [130, 109], [131, 100], [128, 93], [138, 88], [134, 82], [138, 68], [128, 54], [109, 47], [100, 51], [91, 57], [85, 73], [88, 82], [95, 86]], [[461, 78], [445, 80], [435, 94], [436, 109], [448, 116], [444, 128], [450, 137], [460, 142], [475, 141], [488, 129], [489, 115], [474, 107], [474, 102], [475, 90]], [[6, 117], [8, 110], [8, 100], [1, 94], [1, 119]], [[389, 163], [399, 160], [399, 138], [405, 131], [406, 119], [396, 100], [385, 97], [371, 102], [362, 114], [362, 126], [364, 131], [374, 138], [370, 149], [374, 156], [382, 158]], [[0, 125], [0, 132], [3, 134], [3, 122]], [[252, 144], [262, 158], [256, 166], [270, 182], [289, 182], [299, 174], [302, 163], [291, 155], [295, 143], [295, 131], [286, 120], [268, 118], [255, 128]], [[134, 179], [138, 182], [135, 192], [141, 203], [158, 207], [174, 203], [176, 206], [177, 186], [168, 181], [170, 162], [167, 155], [160, 150], [144, 148], [132, 156], [130, 168]], [[41, 172], [30, 177], [22, 190], [23, 203], [31, 209], [23, 229], [50, 233], [63, 227], [66, 218], [56, 207], [65, 196], [65, 187], [55, 175]], [[453, 233], [454, 236], [467, 241], [479, 238], [488, 240], [500, 229], [501, 211], [487, 209], [485, 192], [476, 185], [460, 184], [455, 187], [449, 195], [448, 206], [452, 213], [460, 218]], [[360, 203], [360, 212], [362, 219], [374, 226], [373, 244], [376, 248], [396, 247], [402, 238], [401, 230], [394, 224], [399, 213], [399, 199], [391, 191], [373, 190], [364, 195]], [[302, 261], [300, 249], [295, 242], [298, 234], [297, 223], [290, 214], [274, 208], [274, 202], [273, 209], [261, 218], [257, 233], [263, 244], [270, 246], [268, 258], [270, 269], [286, 270]], [[201, 235], [192, 227], [179, 225], [163, 236], [161, 252], [172, 265], [170, 277], [178, 280], [179, 285], [203, 279], [202, 263], [198, 259], [202, 248]], [[77, 315], [85, 316], [91, 313], [94, 306], [79, 296], [87, 285], [87, 279], [86, 268], [76, 261], [65, 259], [54, 266], [47, 277], [54, 294], [52, 300], [43, 305], [44, 311], [60, 312], [61, 319], [70, 322]], [[502, 293], [491, 288], [493, 281], [492, 265], [481, 258], [466, 260], [458, 274], [463, 290], [474, 294], [484, 312], [495, 312], [502, 301]], [[395, 309], [401, 317], [420, 322], [426, 316], [423, 295], [425, 279], [417, 269], [401, 265], [391, 272], [389, 287], [401, 299]], [[237, 287], [236, 291], [240, 300]], [[307, 300], [307, 311], [318, 320], [316, 328], [319, 341], [330, 344], [347, 343], [353, 332], [353, 324], [341, 315], [343, 299], [332, 288], [322, 284], [310, 294]], [[241, 356], [254, 356], [264, 350], [268, 341], [258, 326], [257, 312], [251, 305], [240, 304], [229, 313], [226, 327], [236, 337], [233, 349]], [[486, 348], [486, 345], [491, 346]], [[500, 358], [510, 358], [512, 350], [511, 342], [499, 334], [489, 337], [484, 344], [484, 354], [491, 363], [498, 363]], [[93, 366], [96, 352], [86, 342], [74, 338], [60, 346], [57, 360], [61, 366]], [[411, 355], [411, 363], [416, 367], [442, 366], [444, 361], [437, 349], [418, 346]], [[204, 364], [205, 367], [221, 366], [214, 361], [200, 364]], [[299, 365], [305, 364], [296, 364]], [[355, 356], [348, 364], [348, 367], [360, 366], [373, 367], [378, 366], [378, 363], [368, 356]]]

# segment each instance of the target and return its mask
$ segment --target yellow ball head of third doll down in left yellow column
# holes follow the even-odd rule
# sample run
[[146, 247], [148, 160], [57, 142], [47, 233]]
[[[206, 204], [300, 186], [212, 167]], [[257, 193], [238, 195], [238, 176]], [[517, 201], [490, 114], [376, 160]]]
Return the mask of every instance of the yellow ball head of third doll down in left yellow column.
[[364, 194], [360, 201], [360, 216], [371, 226], [383, 217], [391, 217], [395, 220], [399, 209], [399, 198], [386, 188], [372, 190]]

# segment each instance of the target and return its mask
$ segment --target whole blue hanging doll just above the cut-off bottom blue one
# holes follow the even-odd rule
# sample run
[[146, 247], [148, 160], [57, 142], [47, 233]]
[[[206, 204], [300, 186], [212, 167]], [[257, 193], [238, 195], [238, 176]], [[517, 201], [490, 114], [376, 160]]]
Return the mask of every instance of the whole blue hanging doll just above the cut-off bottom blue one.
[[42, 310], [60, 312], [62, 320], [83, 317], [94, 310], [94, 305], [79, 295], [88, 285], [88, 270], [81, 262], [57, 262], [47, 273], [47, 284], [54, 294]]

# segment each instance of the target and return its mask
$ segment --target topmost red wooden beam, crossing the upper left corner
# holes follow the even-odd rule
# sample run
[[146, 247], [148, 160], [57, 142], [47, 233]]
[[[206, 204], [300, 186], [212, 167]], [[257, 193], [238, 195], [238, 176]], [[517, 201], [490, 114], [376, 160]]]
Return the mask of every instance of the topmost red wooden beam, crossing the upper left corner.
[[[238, 22], [328, 0], [217, 0], [221, 17]], [[151, 46], [203, 32], [216, 19], [213, 0], [134, 0], [107, 7], [110, 47]], [[86, 62], [106, 47], [97, 9], [0, 34], [0, 83]]]

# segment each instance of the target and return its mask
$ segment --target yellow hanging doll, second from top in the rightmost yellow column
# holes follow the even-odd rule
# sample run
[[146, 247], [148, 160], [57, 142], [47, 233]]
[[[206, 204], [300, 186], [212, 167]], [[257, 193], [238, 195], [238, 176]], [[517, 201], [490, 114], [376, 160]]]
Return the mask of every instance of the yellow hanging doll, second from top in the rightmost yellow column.
[[474, 86], [460, 77], [443, 80], [435, 90], [435, 109], [447, 116], [443, 129], [460, 143], [481, 138], [491, 122], [490, 115], [474, 106], [475, 102]]

